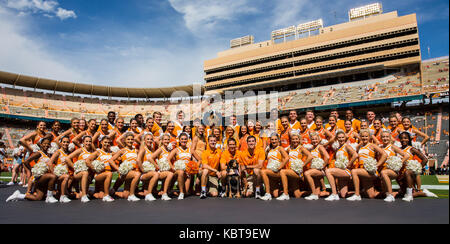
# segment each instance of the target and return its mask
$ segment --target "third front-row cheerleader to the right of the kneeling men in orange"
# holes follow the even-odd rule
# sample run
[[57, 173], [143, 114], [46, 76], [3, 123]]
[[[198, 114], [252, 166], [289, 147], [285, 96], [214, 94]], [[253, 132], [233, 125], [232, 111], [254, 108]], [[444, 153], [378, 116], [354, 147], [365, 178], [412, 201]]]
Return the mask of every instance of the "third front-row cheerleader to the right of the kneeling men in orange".
[[[309, 187], [311, 188], [311, 195], [308, 197], [305, 197], [306, 200], [318, 200], [320, 195], [320, 188], [321, 188], [321, 182], [320, 180], [324, 177], [324, 172], [322, 169], [324, 169], [328, 165], [328, 161], [330, 159], [330, 156], [328, 155], [327, 150], [324, 146], [320, 145], [320, 137], [319, 134], [316, 132], [310, 133], [311, 138], [311, 144], [312, 149], [310, 150], [311, 155], [313, 156], [313, 159], [311, 160], [311, 163], [306, 165], [306, 171], [304, 173], [305, 179], [309, 184]], [[322, 169], [317, 168], [311, 168], [312, 163], [315, 159], [321, 159], [323, 160], [323, 166]]]

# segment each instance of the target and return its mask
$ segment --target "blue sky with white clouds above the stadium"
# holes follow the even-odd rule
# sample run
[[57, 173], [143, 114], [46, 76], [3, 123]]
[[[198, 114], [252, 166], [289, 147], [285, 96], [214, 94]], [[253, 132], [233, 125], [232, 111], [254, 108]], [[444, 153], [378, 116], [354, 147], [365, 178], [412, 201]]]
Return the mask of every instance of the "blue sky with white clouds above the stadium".
[[[367, 0], [0, 0], [0, 70], [128, 87], [203, 82], [203, 61], [229, 40], [278, 28], [346, 22]], [[447, 0], [381, 1], [417, 13], [422, 58], [448, 55]], [[428, 55], [430, 47], [430, 56]]]

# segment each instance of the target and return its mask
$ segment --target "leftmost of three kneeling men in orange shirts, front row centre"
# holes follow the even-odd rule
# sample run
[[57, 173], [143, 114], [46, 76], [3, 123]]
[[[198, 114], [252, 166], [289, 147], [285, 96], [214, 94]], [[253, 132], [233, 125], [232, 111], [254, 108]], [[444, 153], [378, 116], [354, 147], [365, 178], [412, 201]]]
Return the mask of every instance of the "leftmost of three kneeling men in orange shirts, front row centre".
[[219, 164], [222, 151], [216, 148], [217, 138], [213, 135], [208, 136], [209, 147], [202, 153], [202, 173], [201, 185], [202, 192], [200, 199], [205, 199], [206, 188], [209, 188], [209, 194], [212, 197], [217, 197], [219, 188], [219, 179], [222, 178]]

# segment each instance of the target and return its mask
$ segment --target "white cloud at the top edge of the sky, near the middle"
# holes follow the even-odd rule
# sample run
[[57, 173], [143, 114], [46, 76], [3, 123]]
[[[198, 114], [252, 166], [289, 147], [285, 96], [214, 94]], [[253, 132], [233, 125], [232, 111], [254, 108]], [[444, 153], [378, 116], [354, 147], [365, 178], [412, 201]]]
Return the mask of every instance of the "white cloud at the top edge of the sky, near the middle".
[[211, 31], [221, 21], [231, 21], [237, 15], [257, 12], [248, 0], [169, 0], [183, 15], [186, 27], [192, 32]]

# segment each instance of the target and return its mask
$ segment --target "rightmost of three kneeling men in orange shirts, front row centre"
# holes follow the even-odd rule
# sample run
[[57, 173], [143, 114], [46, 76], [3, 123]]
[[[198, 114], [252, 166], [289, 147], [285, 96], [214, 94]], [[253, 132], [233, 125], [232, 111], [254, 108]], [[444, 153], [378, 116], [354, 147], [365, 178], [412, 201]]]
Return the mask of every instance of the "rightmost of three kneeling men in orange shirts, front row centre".
[[241, 171], [244, 172], [242, 177], [246, 177], [248, 190], [246, 197], [253, 194], [253, 185], [256, 186], [255, 198], [261, 198], [261, 169], [266, 159], [266, 154], [263, 150], [256, 148], [256, 138], [249, 136], [247, 138], [248, 148], [241, 152], [239, 157], [239, 164]]

